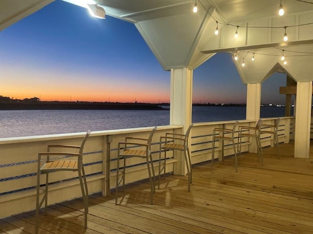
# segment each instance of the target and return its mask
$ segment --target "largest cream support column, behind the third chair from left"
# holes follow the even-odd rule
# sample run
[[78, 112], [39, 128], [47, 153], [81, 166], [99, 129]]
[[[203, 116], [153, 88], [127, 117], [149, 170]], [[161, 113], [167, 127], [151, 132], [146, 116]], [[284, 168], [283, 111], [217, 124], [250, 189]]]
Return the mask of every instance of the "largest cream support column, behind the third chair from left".
[[[193, 71], [186, 67], [171, 69], [170, 124], [183, 125], [184, 133], [191, 124], [192, 73]], [[178, 164], [174, 166], [174, 173], [186, 175], [187, 169], [184, 158], [179, 156], [178, 160]]]

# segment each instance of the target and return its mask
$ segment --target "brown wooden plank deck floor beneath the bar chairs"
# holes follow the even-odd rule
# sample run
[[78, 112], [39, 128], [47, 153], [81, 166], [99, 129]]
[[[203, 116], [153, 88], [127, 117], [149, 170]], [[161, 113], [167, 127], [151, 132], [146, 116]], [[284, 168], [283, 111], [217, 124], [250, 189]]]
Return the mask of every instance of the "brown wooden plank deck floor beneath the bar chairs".
[[[193, 166], [187, 176], [169, 175], [150, 205], [148, 180], [126, 186], [121, 205], [111, 197], [89, 196], [88, 226], [83, 228], [81, 199], [52, 205], [41, 213], [40, 233], [53, 234], [313, 234], [313, 156], [293, 158], [293, 144], [243, 154], [238, 172], [234, 158]], [[313, 147], [311, 147], [313, 148]], [[311, 155], [313, 155], [311, 153]], [[0, 233], [34, 233], [35, 213], [0, 219]]]

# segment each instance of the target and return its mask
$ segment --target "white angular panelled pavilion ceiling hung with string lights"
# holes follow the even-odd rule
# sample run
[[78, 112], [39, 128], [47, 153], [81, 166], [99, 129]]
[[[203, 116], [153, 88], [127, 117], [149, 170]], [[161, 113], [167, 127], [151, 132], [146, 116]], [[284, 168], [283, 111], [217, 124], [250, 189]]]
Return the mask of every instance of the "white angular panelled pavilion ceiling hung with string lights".
[[[36, 12], [51, 1], [53, 0], [0, 0], [0, 30]], [[291, 46], [293, 50], [299, 47], [301, 50], [313, 52], [313, 4], [298, 0], [282, 0], [285, 9], [283, 17], [278, 16], [280, 0], [65, 1], [82, 7], [87, 7], [87, 3], [98, 2], [107, 15], [133, 22], [165, 70], [181, 67], [194, 69], [217, 52], [238, 51], [244, 56], [251, 51], [267, 51], [279, 55], [281, 51], [274, 47], [288, 50]], [[195, 2], [199, 9], [197, 13], [192, 12]], [[218, 36], [214, 35], [216, 20], [219, 21]], [[295, 26], [307, 23], [309, 24]], [[236, 25], [240, 26], [237, 40], [234, 39]], [[288, 26], [287, 43], [282, 39], [284, 29], [280, 27], [283, 26]], [[272, 61], [264, 59], [267, 62], [262, 75], [279, 63], [278, 57], [269, 60]], [[242, 69], [241, 61], [235, 63], [239, 70]], [[288, 74], [293, 74], [292, 70], [296, 70], [292, 66], [285, 68]], [[245, 69], [247, 71], [249, 68]], [[253, 71], [246, 71], [240, 71], [244, 83], [260, 82], [264, 79], [261, 76], [247, 77]], [[305, 72], [297, 71], [294, 76], [299, 81], [313, 77], [313, 71]]]

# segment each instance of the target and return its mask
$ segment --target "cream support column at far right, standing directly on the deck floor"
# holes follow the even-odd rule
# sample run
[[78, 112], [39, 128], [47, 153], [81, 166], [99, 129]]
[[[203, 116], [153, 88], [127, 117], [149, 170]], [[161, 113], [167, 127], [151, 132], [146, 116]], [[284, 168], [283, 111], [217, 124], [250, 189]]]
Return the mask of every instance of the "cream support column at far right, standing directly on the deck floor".
[[310, 157], [312, 81], [297, 82], [294, 157]]

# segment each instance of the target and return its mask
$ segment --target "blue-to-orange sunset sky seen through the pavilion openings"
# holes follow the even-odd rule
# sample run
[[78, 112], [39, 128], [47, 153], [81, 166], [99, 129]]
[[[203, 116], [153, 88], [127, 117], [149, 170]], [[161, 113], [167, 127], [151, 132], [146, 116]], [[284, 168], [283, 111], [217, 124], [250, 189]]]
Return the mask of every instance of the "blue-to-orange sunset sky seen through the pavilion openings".
[[[226, 69], [225, 69], [226, 68]], [[164, 71], [134, 24], [56, 0], [0, 32], [0, 95], [42, 101], [169, 102]], [[194, 70], [193, 102], [246, 103], [246, 85], [230, 54]], [[284, 103], [274, 74], [262, 103]]]

